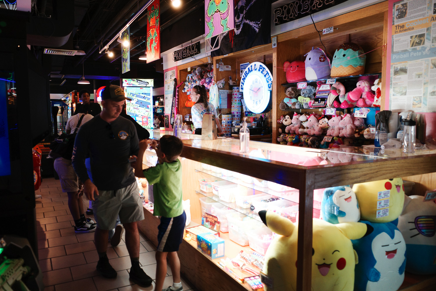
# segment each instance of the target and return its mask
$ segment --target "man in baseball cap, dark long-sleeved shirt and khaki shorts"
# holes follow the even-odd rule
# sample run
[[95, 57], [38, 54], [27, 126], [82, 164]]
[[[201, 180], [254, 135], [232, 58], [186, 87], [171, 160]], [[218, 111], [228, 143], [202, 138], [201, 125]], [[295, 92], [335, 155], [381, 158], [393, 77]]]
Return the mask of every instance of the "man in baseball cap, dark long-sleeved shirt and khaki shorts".
[[[117, 217], [126, 232], [126, 247], [132, 267], [129, 277], [136, 284], [148, 287], [152, 279], [139, 264], [140, 237], [136, 222], [144, 219], [133, 168], [129, 157], [136, 157], [139, 140], [132, 122], [119, 116], [126, 98], [124, 90], [115, 85], [101, 92], [103, 110], [80, 127], [72, 157], [73, 168], [84, 182], [83, 192], [91, 200], [97, 228], [95, 248], [99, 254], [97, 271], [114, 278], [116, 271], [106, 255], [108, 232], [116, 226]], [[85, 158], [90, 157], [92, 179], [86, 171]]]

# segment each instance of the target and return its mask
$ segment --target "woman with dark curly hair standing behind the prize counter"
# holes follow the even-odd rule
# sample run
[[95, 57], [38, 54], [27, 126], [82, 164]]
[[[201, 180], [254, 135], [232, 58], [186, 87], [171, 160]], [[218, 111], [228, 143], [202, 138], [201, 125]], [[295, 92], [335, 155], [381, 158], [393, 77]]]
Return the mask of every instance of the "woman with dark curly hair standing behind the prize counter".
[[194, 123], [195, 134], [201, 134], [204, 113], [211, 113], [215, 116], [215, 122], [218, 127], [218, 136], [222, 135], [221, 122], [217, 116], [217, 110], [212, 103], [208, 102], [208, 93], [204, 85], [196, 85], [191, 89], [191, 100], [195, 102], [191, 108], [192, 123]]

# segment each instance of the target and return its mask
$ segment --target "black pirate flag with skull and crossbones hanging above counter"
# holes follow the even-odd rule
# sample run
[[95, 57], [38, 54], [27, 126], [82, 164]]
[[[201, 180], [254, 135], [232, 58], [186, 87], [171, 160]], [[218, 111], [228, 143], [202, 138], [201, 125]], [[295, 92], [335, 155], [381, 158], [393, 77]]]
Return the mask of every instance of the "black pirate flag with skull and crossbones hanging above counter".
[[[221, 34], [212, 57], [271, 43], [271, 0], [234, 0], [235, 29]], [[215, 39], [211, 39], [213, 44]]]

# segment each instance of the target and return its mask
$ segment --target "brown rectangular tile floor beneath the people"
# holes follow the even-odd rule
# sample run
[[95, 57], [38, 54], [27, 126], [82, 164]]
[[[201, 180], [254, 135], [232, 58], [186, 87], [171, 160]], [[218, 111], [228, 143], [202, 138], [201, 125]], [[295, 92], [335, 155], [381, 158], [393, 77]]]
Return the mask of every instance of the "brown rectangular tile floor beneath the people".
[[[44, 291], [137, 291], [142, 288], [129, 280], [130, 258], [123, 240], [119, 246], [109, 244], [107, 255], [117, 271], [116, 279], [100, 276], [95, 270], [98, 255], [94, 246], [94, 233], [75, 233], [74, 221], [68, 210], [67, 193], [62, 193], [61, 183], [54, 178], [45, 178], [36, 191], [42, 199], [36, 199], [36, 224], [39, 264], [44, 272]], [[84, 209], [89, 200], [83, 196]], [[143, 270], [156, 277], [156, 248], [140, 233], [140, 264]], [[164, 288], [173, 283], [168, 267]], [[191, 286], [182, 278], [183, 290]]]

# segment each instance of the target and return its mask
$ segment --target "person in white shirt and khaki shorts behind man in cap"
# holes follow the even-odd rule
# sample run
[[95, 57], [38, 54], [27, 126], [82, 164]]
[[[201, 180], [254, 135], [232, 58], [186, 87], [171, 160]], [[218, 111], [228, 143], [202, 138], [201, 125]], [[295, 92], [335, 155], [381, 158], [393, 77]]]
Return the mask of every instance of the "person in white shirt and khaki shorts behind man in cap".
[[[89, 106], [83, 106], [80, 113], [68, 118], [66, 133], [67, 136], [74, 143], [74, 137], [79, 127], [88, 122], [94, 116], [87, 114]], [[65, 147], [65, 151], [58, 153], [60, 157], [56, 157], [53, 163], [54, 170], [58, 173], [59, 180], [61, 180], [62, 192], [67, 192], [68, 195], [68, 209], [74, 219], [75, 233], [91, 233], [95, 231], [95, 222], [92, 219], [87, 219], [83, 210], [82, 192], [79, 191], [78, 177], [71, 164], [72, 147]]]

